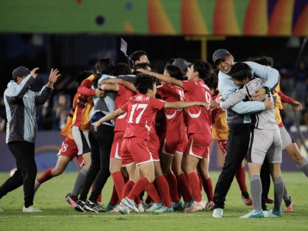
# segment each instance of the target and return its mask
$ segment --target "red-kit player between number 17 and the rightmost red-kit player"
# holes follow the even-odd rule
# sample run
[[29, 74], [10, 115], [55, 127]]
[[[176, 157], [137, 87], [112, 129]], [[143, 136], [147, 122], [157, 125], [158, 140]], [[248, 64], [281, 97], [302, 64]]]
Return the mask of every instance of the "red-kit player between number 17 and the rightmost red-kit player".
[[[167, 65], [164, 69], [164, 75], [183, 80], [183, 72], [180, 67], [175, 65]], [[166, 102], [185, 100], [183, 89], [172, 84], [162, 82], [162, 86], [157, 88], [157, 92], [161, 95], [162, 100]], [[180, 210], [183, 204], [178, 197], [178, 183], [184, 201], [188, 203], [192, 199], [187, 177], [181, 168], [184, 148], [188, 143], [184, 111], [183, 109], [164, 109], [164, 114], [165, 124], [161, 137], [161, 166], [169, 184], [172, 206], [174, 206], [175, 210]], [[177, 182], [176, 176], [179, 182]]]

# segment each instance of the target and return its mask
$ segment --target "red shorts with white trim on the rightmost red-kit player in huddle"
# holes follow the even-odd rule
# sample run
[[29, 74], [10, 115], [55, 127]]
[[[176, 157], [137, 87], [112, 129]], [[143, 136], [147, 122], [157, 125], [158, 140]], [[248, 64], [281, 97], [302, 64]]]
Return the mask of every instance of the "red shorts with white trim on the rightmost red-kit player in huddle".
[[188, 134], [188, 144], [185, 148], [184, 154], [198, 157], [200, 159], [209, 159], [209, 143], [211, 141], [211, 134]]

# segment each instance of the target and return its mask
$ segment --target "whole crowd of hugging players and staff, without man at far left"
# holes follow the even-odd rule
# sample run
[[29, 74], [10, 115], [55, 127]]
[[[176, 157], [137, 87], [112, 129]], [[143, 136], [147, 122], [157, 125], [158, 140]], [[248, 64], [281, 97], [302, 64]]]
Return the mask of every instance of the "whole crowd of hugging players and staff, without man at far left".
[[[203, 60], [191, 64], [174, 59], [163, 74], [151, 69], [145, 51], [133, 52], [129, 61], [114, 65], [104, 58], [95, 64], [94, 74], [78, 76], [81, 84], [61, 131], [66, 138], [59, 159], [35, 180], [34, 191], [77, 157], [81, 169], [66, 197], [77, 211], [191, 213], [208, 208], [221, 218], [234, 176], [243, 202], [253, 205], [242, 218], [281, 217], [282, 199], [284, 210], [292, 211], [280, 172], [282, 150], [307, 177], [308, 160], [284, 128], [279, 110], [281, 102], [295, 110], [301, 105], [280, 91], [270, 57], [235, 63], [232, 54], [218, 49], [215, 68]], [[212, 139], [225, 156], [215, 195], [208, 171]], [[245, 184], [244, 156], [252, 198]], [[267, 197], [269, 173], [274, 201]], [[104, 208], [101, 191], [110, 175], [113, 192]], [[274, 203], [274, 208], [267, 211], [265, 203]]]

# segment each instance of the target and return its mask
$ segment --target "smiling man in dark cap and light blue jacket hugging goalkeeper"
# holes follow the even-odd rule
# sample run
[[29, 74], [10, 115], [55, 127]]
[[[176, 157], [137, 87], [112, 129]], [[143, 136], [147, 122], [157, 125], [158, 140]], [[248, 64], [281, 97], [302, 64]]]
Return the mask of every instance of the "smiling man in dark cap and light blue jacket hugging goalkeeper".
[[[218, 73], [218, 90], [223, 99], [227, 99], [229, 94], [235, 92], [238, 87], [234, 84], [229, 76], [230, 70], [234, 65], [234, 57], [225, 49], [218, 49], [213, 54], [213, 62], [219, 69]], [[253, 74], [265, 79], [264, 87], [272, 89], [279, 79], [279, 72], [271, 67], [259, 65], [254, 62], [246, 62], [251, 68]], [[237, 169], [240, 167], [249, 144], [249, 123], [250, 118], [248, 113], [260, 112], [265, 109], [263, 102], [258, 102], [264, 98], [266, 93], [265, 88], [258, 89], [254, 94], [254, 102], [241, 101], [237, 105], [227, 110], [227, 124], [229, 126], [229, 136], [227, 153], [224, 166], [214, 191], [215, 208], [213, 217], [222, 218], [225, 197], [231, 186]], [[269, 104], [271, 105], [271, 104]], [[263, 179], [262, 179], [263, 180]]]

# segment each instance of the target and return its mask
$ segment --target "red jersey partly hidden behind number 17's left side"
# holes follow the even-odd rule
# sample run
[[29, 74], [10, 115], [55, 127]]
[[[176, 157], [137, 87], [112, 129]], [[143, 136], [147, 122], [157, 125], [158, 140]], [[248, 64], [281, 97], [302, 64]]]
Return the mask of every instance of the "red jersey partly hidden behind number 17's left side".
[[[127, 100], [130, 97], [133, 97], [134, 92], [131, 90], [128, 90], [126, 87], [124, 87], [122, 84], [119, 85], [119, 91], [117, 95], [115, 95], [115, 100], [114, 100], [114, 108], [115, 110], [120, 108], [120, 105]], [[114, 131], [126, 131], [126, 112], [122, 115], [120, 115], [118, 118], [114, 120], [115, 125], [114, 125]]]

